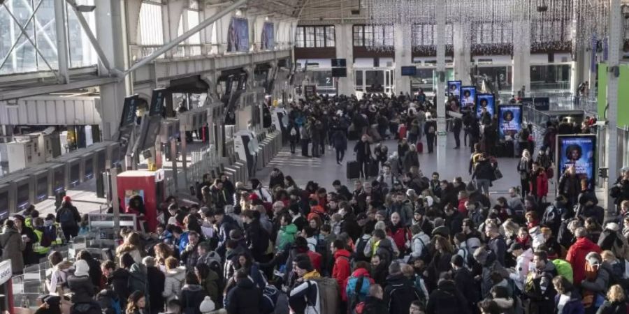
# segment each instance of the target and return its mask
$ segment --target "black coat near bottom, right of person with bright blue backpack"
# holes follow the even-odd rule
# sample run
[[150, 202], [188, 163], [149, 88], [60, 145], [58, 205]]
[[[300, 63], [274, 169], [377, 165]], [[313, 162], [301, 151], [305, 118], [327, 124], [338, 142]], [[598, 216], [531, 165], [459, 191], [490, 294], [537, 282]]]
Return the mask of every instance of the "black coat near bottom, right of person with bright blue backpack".
[[408, 314], [411, 302], [417, 299], [413, 281], [403, 274], [389, 276], [386, 278], [383, 299], [389, 304], [390, 314]]

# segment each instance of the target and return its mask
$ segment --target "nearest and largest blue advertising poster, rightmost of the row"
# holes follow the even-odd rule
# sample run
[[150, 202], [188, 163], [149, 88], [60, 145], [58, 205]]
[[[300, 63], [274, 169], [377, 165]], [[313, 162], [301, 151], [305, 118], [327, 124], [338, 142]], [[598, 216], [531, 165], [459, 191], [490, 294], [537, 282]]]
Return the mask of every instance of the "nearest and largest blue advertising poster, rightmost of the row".
[[559, 174], [574, 167], [579, 179], [586, 179], [588, 188], [595, 184], [596, 135], [557, 135], [557, 156]]

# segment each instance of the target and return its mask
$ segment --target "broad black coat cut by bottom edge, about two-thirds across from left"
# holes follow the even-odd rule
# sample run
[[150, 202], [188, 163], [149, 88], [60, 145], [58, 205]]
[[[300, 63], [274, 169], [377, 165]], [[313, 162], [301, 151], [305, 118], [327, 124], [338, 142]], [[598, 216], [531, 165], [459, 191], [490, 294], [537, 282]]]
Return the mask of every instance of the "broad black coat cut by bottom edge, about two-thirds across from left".
[[[468, 288], [468, 287], [465, 287]], [[401, 312], [391, 312], [401, 313]], [[408, 313], [406, 310], [404, 313]], [[426, 314], [469, 314], [470, 306], [463, 294], [456, 289], [454, 281], [440, 281], [436, 290], [428, 297]]]

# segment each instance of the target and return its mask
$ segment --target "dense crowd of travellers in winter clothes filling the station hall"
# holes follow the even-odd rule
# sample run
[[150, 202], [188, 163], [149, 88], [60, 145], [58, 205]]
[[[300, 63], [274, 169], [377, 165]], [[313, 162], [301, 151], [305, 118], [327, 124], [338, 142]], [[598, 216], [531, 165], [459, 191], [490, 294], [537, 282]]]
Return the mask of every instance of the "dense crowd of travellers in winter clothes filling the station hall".
[[[340, 164], [356, 141], [353, 188], [341, 176], [299, 186], [281, 169], [267, 187], [208, 174], [198, 204], [168, 197], [157, 230], [123, 229], [113, 260], [82, 251], [73, 263], [49, 243], [52, 234], [63, 241], [84, 232], [68, 198], [56, 216], [31, 209], [6, 220], [3, 259], [19, 273], [48, 258], [38, 314], [58, 314], [64, 302], [73, 314], [628, 313], [629, 169], [612, 188], [619, 213], [605, 220], [591, 187], [570, 177], [574, 169], [549, 197], [552, 143], [536, 156], [523, 144], [510, 170], [521, 186], [494, 200], [495, 117], [477, 119], [449, 100], [461, 113], [449, 121], [452, 148], [464, 130], [472, 152], [472, 179], [449, 181], [419, 164], [423, 143], [430, 154], [436, 140], [433, 104], [420, 92], [287, 106], [293, 153], [299, 143], [303, 156], [318, 157], [329, 145]], [[387, 137], [398, 141], [391, 154]], [[124, 211], [141, 218], [142, 199]]]

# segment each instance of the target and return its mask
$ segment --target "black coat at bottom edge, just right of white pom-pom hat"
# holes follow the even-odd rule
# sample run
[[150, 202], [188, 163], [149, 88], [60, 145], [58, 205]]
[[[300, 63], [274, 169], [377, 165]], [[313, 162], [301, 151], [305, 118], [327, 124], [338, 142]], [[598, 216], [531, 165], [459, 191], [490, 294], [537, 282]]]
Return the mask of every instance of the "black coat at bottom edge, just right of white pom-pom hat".
[[240, 279], [227, 293], [225, 304], [229, 314], [259, 314], [262, 291], [249, 278]]

